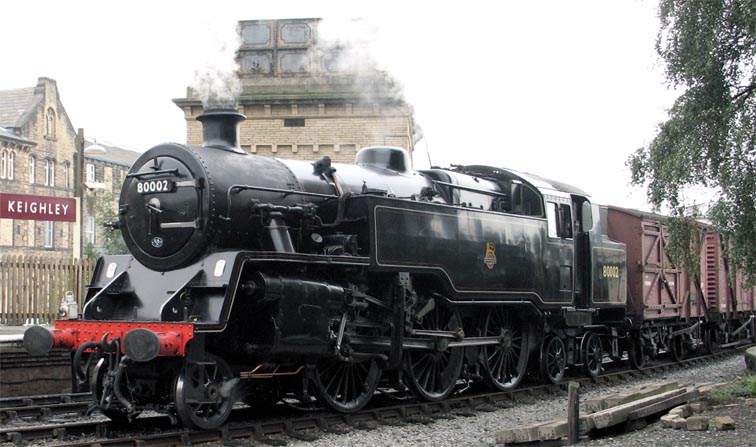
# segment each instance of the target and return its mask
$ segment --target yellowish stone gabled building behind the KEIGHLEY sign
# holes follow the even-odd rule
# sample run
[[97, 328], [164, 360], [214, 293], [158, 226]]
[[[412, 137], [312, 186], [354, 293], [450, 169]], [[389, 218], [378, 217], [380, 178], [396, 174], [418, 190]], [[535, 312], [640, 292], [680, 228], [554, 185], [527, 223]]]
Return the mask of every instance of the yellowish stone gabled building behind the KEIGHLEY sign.
[[[0, 192], [74, 197], [75, 139], [76, 130], [53, 79], [42, 77], [35, 87], [0, 90]], [[85, 157], [84, 180], [104, 183], [103, 191], [117, 191], [130, 161], [139, 155], [126, 152], [130, 154], [125, 156], [122, 149], [111, 147], [105, 155]], [[103, 191], [89, 192], [90, 204], [82, 220], [82, 239], [91, 241], [94, 247], [99, 246], [102, 230], [95, 225], [91, 202]], [[0, 219], [0, 251], [71, 256], [74, 231], [71, 222]]]

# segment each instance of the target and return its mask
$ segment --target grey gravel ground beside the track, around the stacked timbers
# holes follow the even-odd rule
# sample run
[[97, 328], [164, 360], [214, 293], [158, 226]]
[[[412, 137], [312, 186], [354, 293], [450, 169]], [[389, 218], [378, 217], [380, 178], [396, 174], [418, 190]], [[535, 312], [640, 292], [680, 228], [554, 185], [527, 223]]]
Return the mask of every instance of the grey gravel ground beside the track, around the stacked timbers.
[[[686, 368], [681, 371], [659, 373], [644, 380], [625, 382], [615, 386], [581, 390], [581, 401], [616, 393], [645, 383], [677, 381], [682, 384], [702, 382], [731, 382], [748, 372], [742, 354], [733, 355], [718, 363]], [[291, 447], [319, 446], [493, 446], [496, 432], [504, 428], [549, 421], [566, 414], [567, 396], [548, 398], [529, 405], [517, 405], [474, 417], [438, 420], [428, 425], [378, 426], [372, 430], [355, 430], [347, 434], [327, 434], [316, 441], [288, 439]], [[662, 429], [659, 422], [645, 429], [614, 437], [583, 441], [586, 446], [756, 446], [756, 407], [736, 405], [716, 407], [706, 416], [729, 415], [736, 421], [736, 429], [724, 432], [682, 432]], [[713, 424], [712, 424], [713, 425]]]

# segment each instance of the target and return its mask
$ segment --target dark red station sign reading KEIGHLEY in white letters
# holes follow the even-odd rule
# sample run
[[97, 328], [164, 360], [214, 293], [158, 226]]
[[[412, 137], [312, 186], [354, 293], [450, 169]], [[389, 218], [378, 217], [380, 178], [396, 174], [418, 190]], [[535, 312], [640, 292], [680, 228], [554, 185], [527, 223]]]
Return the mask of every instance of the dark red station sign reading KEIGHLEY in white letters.
[[2, 192], [0, 218], [76, 222], [76, 199]]

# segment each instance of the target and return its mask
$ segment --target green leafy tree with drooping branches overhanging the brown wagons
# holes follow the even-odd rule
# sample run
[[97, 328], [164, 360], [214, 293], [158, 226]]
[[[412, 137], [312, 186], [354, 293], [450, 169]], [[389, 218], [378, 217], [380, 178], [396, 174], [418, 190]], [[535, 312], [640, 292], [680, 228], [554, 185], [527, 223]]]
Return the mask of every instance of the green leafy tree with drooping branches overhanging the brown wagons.
[[[656, 50], [683, 93], [658, 134], [628, 160], [677, 228], [697, 217], [691, 187], [714, 191], [707, 217], [731, 262], [756, 282], [756, 0], [661, 0]], [[677, 236], [690, 241], [690, 236]]]

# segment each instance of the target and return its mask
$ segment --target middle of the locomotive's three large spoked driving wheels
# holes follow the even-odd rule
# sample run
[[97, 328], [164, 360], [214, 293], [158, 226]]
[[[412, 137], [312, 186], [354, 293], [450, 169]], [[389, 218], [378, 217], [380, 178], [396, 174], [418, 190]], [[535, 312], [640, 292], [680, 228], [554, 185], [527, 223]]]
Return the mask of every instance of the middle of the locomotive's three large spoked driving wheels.
[[[428, 331], [457, 331], [462, 324], [456, 312], [436, 306], [414, 329]], [[419, 398], [429, 401], [445, 399], [454, 391], [462, 371], [463, 348], [449, 348], [448, 339], [439, 338], [435, 350], [408, 350], [404, 356], [404, 381]]]

